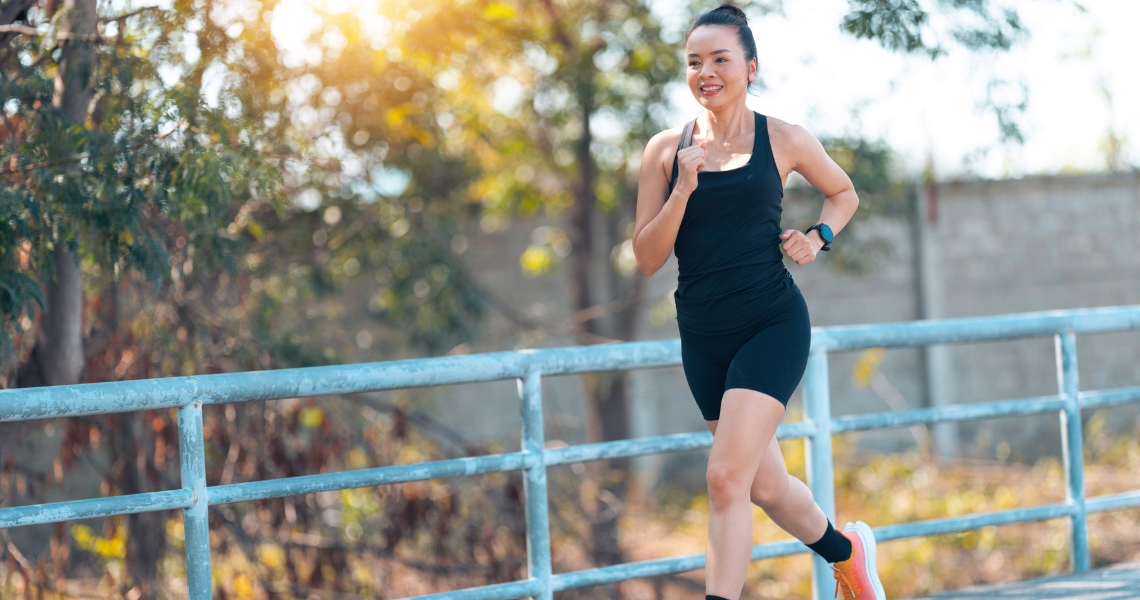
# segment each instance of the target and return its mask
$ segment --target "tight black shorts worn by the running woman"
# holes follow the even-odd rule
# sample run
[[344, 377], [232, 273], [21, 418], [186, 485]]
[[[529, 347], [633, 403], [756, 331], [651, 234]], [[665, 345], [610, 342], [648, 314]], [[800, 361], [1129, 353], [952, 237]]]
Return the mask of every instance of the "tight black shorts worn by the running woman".
[[788, 406], [804, 378], [812, 346], [807, 303], [799, 293], [739, 332], [703, 335], [681, 330], [681, 364], [706, 421], [720, 419], [734, 388], [767, 394]]

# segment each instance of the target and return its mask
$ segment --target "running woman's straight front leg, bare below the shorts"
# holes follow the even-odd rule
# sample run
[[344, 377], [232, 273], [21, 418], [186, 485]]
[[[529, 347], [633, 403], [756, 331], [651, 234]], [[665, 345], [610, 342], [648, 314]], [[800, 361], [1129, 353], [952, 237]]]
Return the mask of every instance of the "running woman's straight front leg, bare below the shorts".
[[720, 419], [708, 422], [714, 432], [706, 473], [709, 535], [705, 589], [708, 594], [735, 600], [744, 587], [752, 554], [751, 489], [783, 413], [780, 400], [734, 388], [724, 392]]

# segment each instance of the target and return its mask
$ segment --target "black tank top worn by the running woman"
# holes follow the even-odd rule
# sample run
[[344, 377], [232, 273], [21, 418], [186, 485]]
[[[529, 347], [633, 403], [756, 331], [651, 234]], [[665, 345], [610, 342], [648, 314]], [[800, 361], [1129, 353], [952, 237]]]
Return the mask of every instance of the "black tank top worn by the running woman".
[[[799, 290], [783, 265], [783, 184], [767, 117], [756, 114], [748, 164], [699, 171], [677, 241], [677, 324], [692, 333], [734, 331], [764, 318]], [[677, 159], [674, 157], [674, 169]]]

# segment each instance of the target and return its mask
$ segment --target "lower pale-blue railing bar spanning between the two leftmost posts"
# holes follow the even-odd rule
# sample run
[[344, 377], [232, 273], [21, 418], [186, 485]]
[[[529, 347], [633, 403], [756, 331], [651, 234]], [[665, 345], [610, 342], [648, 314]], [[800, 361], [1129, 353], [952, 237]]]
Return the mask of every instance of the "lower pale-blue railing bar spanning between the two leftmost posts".
[[537, 463], [536, 456], [524, 452], [512, 452], [489, 456], [471, 456], [438, 462], [399, 464], [336, 473], [306, 475], [266, 481], [229, 484], [207, 488], [207, 496], [211, 505], [228, 504], [230, 502], [249, 502], [251, 500], [295, 496], [315, 492], [333, 492], [355, 487], [422, 481], [424, 479], [516, 471]]

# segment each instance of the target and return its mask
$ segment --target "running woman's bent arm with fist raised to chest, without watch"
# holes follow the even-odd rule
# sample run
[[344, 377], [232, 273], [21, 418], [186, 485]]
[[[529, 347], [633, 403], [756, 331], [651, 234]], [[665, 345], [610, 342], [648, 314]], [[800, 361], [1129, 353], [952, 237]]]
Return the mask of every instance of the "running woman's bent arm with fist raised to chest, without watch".
[[[669, 259], [677, 241], [681, 219], [685, 216], [689, 195], [697, 189], [697, 171], [705, 167], [705, 143], [677, 153], [677, 185], [669, 192], [665, 171], [666, 156], [671, 163], [677, 136], [662, 131], [645, 145], [641, 175], [637, 179], [637, 217], [634, 222], [634, 257], [637, 268], [653, 275]], [[670, 169], [671, 171], [671, 169]], [[668, 196], [668, 197], [667, 197]]]

